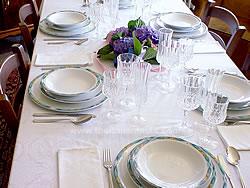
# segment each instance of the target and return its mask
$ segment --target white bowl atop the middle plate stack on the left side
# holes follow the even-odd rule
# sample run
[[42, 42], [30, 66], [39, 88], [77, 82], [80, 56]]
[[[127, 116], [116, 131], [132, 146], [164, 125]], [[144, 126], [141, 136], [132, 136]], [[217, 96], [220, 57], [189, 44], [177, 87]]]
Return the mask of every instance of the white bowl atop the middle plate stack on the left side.
[[41, 87], [58, 96], [77, 96], [93, 90], [96, 76], [83, 68], [60, 68], [45, 73]]

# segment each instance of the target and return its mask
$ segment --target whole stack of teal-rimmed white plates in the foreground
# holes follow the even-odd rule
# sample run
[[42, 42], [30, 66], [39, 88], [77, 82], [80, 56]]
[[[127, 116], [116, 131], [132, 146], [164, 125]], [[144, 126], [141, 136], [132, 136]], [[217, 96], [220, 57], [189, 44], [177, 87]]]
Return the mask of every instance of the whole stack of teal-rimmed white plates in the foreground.
[[147, 137], [127, 145], [115, 159], [113, 177], [117, 187], [227, 187], [211, 153], [173, 137]]

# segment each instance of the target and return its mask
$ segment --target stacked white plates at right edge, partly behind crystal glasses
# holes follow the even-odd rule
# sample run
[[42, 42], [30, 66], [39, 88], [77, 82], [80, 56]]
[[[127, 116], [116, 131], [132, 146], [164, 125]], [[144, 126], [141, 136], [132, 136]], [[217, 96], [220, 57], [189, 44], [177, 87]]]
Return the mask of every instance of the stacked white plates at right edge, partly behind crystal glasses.
[[228, 117], [230, 120], [250, 119], [250, 83], [236, 74], [223, 75], [219, 92], [229, 98]]

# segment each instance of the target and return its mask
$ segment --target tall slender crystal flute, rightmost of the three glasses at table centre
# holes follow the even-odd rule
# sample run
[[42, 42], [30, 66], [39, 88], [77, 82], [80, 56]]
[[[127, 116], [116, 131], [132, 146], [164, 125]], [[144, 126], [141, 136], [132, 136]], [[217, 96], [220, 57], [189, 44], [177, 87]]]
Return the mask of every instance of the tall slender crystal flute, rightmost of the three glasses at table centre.
[[137, 113], [133, 120], [135, 123], [145, 122], [146, 119], [141, 115], [141, 107], [147, 101], [148, 97], [148, 75], [151, 65], [147, 62], [138, 62], [133, 64], [134, 67], [134, 96]]

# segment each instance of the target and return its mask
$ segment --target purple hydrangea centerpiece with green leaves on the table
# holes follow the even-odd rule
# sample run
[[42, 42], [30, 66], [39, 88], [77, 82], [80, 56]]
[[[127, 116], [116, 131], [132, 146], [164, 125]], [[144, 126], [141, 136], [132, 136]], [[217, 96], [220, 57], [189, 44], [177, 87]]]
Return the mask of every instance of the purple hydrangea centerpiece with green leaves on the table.
[[140, 19], [128, 22], [128, 27], [120, 27], [108, 33], [108, 44], [98, 50], [98, 58], [112, 60], [116, 66], [116, 57], [121, 53], [142, 55], [142, 59], [151, 64], [156, 61], [156, 49], [159, 34]]

